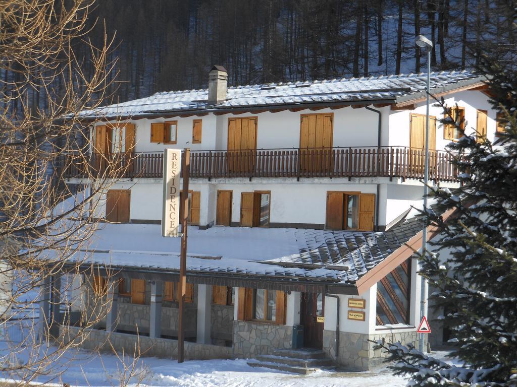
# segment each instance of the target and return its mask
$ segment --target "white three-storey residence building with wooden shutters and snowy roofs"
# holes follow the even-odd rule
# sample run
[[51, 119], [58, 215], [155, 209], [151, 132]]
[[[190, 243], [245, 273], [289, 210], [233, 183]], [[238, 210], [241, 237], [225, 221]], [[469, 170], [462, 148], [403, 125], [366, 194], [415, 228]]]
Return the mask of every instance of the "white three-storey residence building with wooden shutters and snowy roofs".
[[[422, 199], [426, 75], [231, 88], [226, 78], [216, 66], [208, 90], [83, 112], [92, 166], [103, 172], [102, 156], [123, 154], [127, 167], [96, 214], [129, 224], [98, 232], [113, 260], [97, 252], [94, 262], [124, 281], [106, 331], [92, 337], [127, 347], [138, 331], [153, 353], [171, 356], [179, 241], [159, 236], [162, 157], [190, 148], [187, 337], [197, 344], [187, 343], [187, 357], [265, 356], [298, 346], [302, 329], [303, 346], [368, 369], [381, 353], [367, 339], [416, 342], [421, 223], [408, 211]], [[493, 140], [483, 79], [433, 73], [431, 93], [457, 105], [467, 135]], [[430, 114], [431, 182], [457, 186], [446, 146], [460, 134], [439, 123], [442, 108]], [[67, 177], [95, 183], [80, 168]]]

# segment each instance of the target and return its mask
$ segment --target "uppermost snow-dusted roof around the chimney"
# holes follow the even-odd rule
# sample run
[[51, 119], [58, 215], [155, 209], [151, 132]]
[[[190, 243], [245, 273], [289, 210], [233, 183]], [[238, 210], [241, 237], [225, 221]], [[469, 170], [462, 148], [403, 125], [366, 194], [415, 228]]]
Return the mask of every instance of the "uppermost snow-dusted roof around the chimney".
[[[430, 78], [431, 92], [474, 85], [485, 79], [484, 76], [467, 71], [433, 72]], [[220, 111], [315, 103], [399, 103], [424, 93], [426, 85], [427, 74], [419, 73], [233, 86], [227, 89], [226, 101], [217, 105], [208, 105], [208, 89], [168, 91], [96, 110], [84, 110], [81, 116], [138, 118], [185, 111]]]

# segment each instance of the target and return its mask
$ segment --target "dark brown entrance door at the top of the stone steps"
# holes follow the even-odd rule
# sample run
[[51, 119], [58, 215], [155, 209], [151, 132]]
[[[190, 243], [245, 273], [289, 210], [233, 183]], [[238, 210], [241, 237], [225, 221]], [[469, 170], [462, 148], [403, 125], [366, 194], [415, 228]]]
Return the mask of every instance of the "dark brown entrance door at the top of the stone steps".
[[303, 346], [323, 348], [325, 304], [322, 293], [301, 294], [300, 322], [303, 325]]

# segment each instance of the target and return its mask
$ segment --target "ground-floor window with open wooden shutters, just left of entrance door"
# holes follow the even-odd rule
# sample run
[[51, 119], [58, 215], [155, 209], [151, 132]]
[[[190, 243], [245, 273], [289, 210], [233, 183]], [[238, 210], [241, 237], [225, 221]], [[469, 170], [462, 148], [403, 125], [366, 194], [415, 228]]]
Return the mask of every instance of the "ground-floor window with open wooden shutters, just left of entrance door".
[[237, 319], [285, 324], [285, 292], [239, 287]]

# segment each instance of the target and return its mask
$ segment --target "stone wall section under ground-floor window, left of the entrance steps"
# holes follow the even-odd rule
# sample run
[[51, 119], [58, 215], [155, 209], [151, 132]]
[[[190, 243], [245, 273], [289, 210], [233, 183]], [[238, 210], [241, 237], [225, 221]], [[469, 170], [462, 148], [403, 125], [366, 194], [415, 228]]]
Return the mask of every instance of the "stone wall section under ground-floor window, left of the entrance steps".
[[250, 358], [272, 353], [273, 349], [292, 347], [293, 327], [267, 322], [234, 321], [233, 355]]

